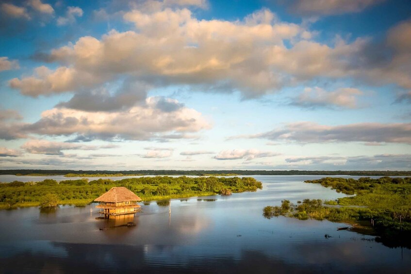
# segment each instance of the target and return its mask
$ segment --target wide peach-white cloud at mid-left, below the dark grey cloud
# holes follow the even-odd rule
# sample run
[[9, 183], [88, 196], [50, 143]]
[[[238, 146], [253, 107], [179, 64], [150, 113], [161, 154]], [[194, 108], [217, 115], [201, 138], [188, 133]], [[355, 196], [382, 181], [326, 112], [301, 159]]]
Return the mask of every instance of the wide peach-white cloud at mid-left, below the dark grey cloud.
[[21, 132], [41, 135], [70, 136], [100, 140], [151, 140], [190, 138], [187, 133], [210, 128], [194, 109], [182, 107], [163, 112], [156, 100], [146, 99], [123, 112], [86, 112], [54, 108], [42, 113], [39, 121], [25, 125]]

